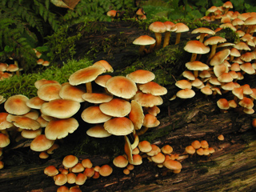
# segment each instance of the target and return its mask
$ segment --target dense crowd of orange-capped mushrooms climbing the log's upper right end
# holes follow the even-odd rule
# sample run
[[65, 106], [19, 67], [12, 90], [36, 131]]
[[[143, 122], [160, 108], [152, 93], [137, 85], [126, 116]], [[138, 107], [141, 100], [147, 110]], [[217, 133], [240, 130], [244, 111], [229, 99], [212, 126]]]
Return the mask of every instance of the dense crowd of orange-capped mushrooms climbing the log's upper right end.
[[[253, 21], [256, 21], [256, 15], [227, 11], [226, 5], [229, 9], [232, 8], [232, 4], [228, 2], [224, 3], [222, 8], [211, 7], [207, 11], [211, 20], [221, 18], [222, 24], [218, 29], [200, 27], [192, 31], [192, 34], [200, 33], [199, 40], [190, 40], [184, 47], [184, 50], [192, 53], [192, 56], [190, 62], [186, 63], [187, 70], [182, 73], [185, 79], [175, 84], [181, 89], [175, 97], [192, 98], [195, 94], [194, 90], [200, 90], [206, 95], [222, 95], [230, 92], [234, 94], [234, 99], [227, 101], [226, 98], [221, 98], [217, 102], [222, 111], [236, 108], [243, 113], [253, 114], [256, 92], [254, 88], [250, 88], [247, 84], [240, 85], [238, 81], [242, 80], [244, 75], [255, 74], [256, 38], [253, 34], [256, 23]], [[239, 22], [238, 25], [240, 20], [244, 23]], [[240, 38], [239, 42], [226, 42], [226, 38], [218, 36], [218, 31], [227, 27], [236, 32]], [[198, 54], [205, 54], [206, 59], [199, 61], [201, 57], [197, 57]]]

